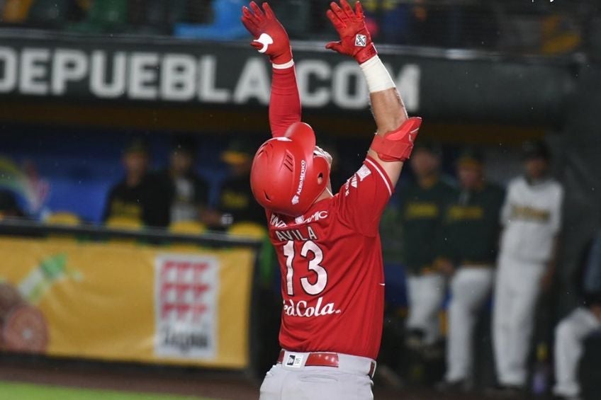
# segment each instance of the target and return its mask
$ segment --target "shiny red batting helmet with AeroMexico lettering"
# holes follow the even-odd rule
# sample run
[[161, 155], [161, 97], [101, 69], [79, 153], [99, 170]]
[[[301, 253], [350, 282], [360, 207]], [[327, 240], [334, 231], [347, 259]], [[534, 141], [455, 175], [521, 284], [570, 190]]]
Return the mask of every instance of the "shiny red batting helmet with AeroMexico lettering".
[[267, 210], [291, 217], [309, 210], [330, 178], [330, 164], [314, 151], [315, 133], [304, 122], [294, 122], [283, 137], [262, 144], [250, 171], [250, 186], [257, 202]]

